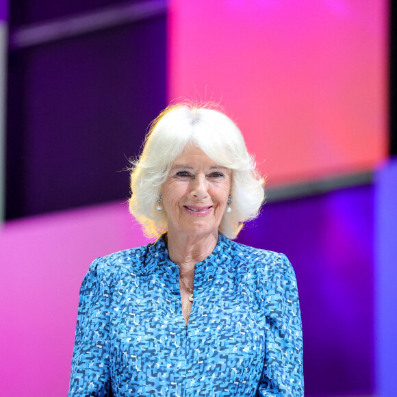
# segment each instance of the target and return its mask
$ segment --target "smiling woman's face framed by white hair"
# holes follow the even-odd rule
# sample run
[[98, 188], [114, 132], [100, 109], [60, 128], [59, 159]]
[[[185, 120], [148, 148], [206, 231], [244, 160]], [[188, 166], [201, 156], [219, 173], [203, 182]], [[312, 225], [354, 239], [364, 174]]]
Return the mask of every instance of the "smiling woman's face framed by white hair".
[[188, 146], [172, 163], [162, 186], [168, 233], [218, 235], [231, 191], [231, 170]]

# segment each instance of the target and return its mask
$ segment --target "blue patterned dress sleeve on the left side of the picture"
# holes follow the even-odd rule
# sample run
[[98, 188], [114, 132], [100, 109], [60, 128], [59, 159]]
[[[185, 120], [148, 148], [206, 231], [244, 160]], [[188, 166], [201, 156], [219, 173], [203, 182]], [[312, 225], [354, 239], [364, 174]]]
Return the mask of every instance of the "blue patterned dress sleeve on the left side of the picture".
[[109, 366], [110, 291], [101, 259], [81, 284], [68, 397], [111, 397]]

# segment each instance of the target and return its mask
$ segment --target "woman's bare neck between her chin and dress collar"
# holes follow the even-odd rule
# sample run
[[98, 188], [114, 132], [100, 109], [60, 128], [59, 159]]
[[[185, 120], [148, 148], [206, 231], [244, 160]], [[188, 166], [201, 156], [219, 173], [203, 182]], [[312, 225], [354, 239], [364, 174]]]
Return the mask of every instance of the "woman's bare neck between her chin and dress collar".
[[218, 243], [218, 231], [203, 236], [168, 231], [164, 240], [170, 259], [179, 265], [181, 272], [188, 272], [214, 251]]

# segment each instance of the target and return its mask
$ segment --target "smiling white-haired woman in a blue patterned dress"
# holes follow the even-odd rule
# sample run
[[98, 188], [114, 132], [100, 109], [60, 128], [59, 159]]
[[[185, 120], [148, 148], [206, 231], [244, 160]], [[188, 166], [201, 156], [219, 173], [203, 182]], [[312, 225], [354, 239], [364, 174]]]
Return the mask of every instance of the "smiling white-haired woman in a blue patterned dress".
[[238, 127], [168, 107], [131, 190], [131, 214], [157, 240], [90, 266], [69, 396], [303, 396], [294, 270], [233, 242], [264, 201]]

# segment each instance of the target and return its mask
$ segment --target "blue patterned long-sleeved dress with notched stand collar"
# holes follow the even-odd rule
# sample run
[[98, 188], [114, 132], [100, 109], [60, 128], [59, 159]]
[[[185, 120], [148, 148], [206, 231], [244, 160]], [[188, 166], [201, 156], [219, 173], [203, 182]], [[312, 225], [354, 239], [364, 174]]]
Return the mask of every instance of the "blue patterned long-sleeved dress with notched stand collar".
[[81, 285], [69, 397], [303, 396], [294, 270], [219, 235], [196, 264], [189, 324], [179, 266], [157, 242], [96, 259]]

